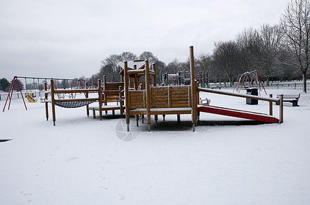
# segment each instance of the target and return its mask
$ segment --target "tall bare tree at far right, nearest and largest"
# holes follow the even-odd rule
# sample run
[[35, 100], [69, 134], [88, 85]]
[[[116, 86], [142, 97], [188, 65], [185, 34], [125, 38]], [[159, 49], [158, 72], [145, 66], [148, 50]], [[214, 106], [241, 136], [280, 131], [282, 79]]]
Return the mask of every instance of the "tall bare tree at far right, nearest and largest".
[[281, 17], [285, 46], [294, 53], [294, 61], [302, 72], [303, 92], [307, 92], [307, 70], [309, 68], [310, 2], [292, 0]]

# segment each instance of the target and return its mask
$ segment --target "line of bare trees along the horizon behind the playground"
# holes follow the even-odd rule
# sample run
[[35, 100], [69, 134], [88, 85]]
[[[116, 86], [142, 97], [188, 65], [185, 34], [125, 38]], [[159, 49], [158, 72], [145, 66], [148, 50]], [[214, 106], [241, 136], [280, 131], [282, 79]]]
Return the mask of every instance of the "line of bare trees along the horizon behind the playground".
[[[291, 81], [302, 79], [307, 92], [307, 72], [310, 59], [310, 2], [291, 0], [281, 15], [278, 25], [263, 24], [260, 28], [246, 28], [233, 40], [215, 42], [213, 53], [195, 56], [195, 72], [206, 73], [208, 81], [227, 82], [230, 86], [239, 74], [257, 70], [263, 81]], [[88, 80], [97, 82], [104, 75], [107, 81], [120, 81], [119, 62], [147, 59], [156, 64], [156, 81], [160, 73], [189, 70], [189, 59], [174, 59], [169, 64], [160, 61], [152, 52], [137, 56], [129, 51], [112, 54], [100, 62], [99, 72]], [[85, 77], [84, 77], [85, 78]], [[0, 81], [0, 89], [7, 82]], [[5, 87], [5, 86], [4, 86]]]

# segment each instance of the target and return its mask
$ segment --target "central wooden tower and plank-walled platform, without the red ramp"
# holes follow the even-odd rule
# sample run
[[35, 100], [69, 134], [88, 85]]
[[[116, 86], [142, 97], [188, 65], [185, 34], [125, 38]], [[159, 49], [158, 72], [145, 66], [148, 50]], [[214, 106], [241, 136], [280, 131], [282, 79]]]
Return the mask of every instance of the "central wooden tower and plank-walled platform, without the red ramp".
[[[191, 55], [191, 74], [194, 79], [193, 70], [193, 46], [190, 47]], [[128, 62], [124, 62], [124, 81], [125, 81], [125, 100], [126, 100], [126, 124], [129, 131], [130, 115], [136, 115], [138, 126], [139, 115], [147, 116], [148, 131], [151, 129], [151, 115], [157, 122], [158, 115], [178, 115], [178, 120], [181, 114], [191, 114], [193, 123], [193, 131], [195, 131], [195, 123], [198, 119], [197, 102], [197, 84], [191, 81], [191, 85], [178, 86], [156, 86], [156, 65], [152, 65], [153, 70], [149, 68], [149, 62], [145, 60], [145, 66], [140, 69], [128, 68]], [[137, 89], [130, 87], [130, 81], [138, 76], [145, 76], [145, 89]], [[150, 85], [150, 76], [153, 76], [153, 85]], [[157, 124], [157, 123], [156, 123]]]

